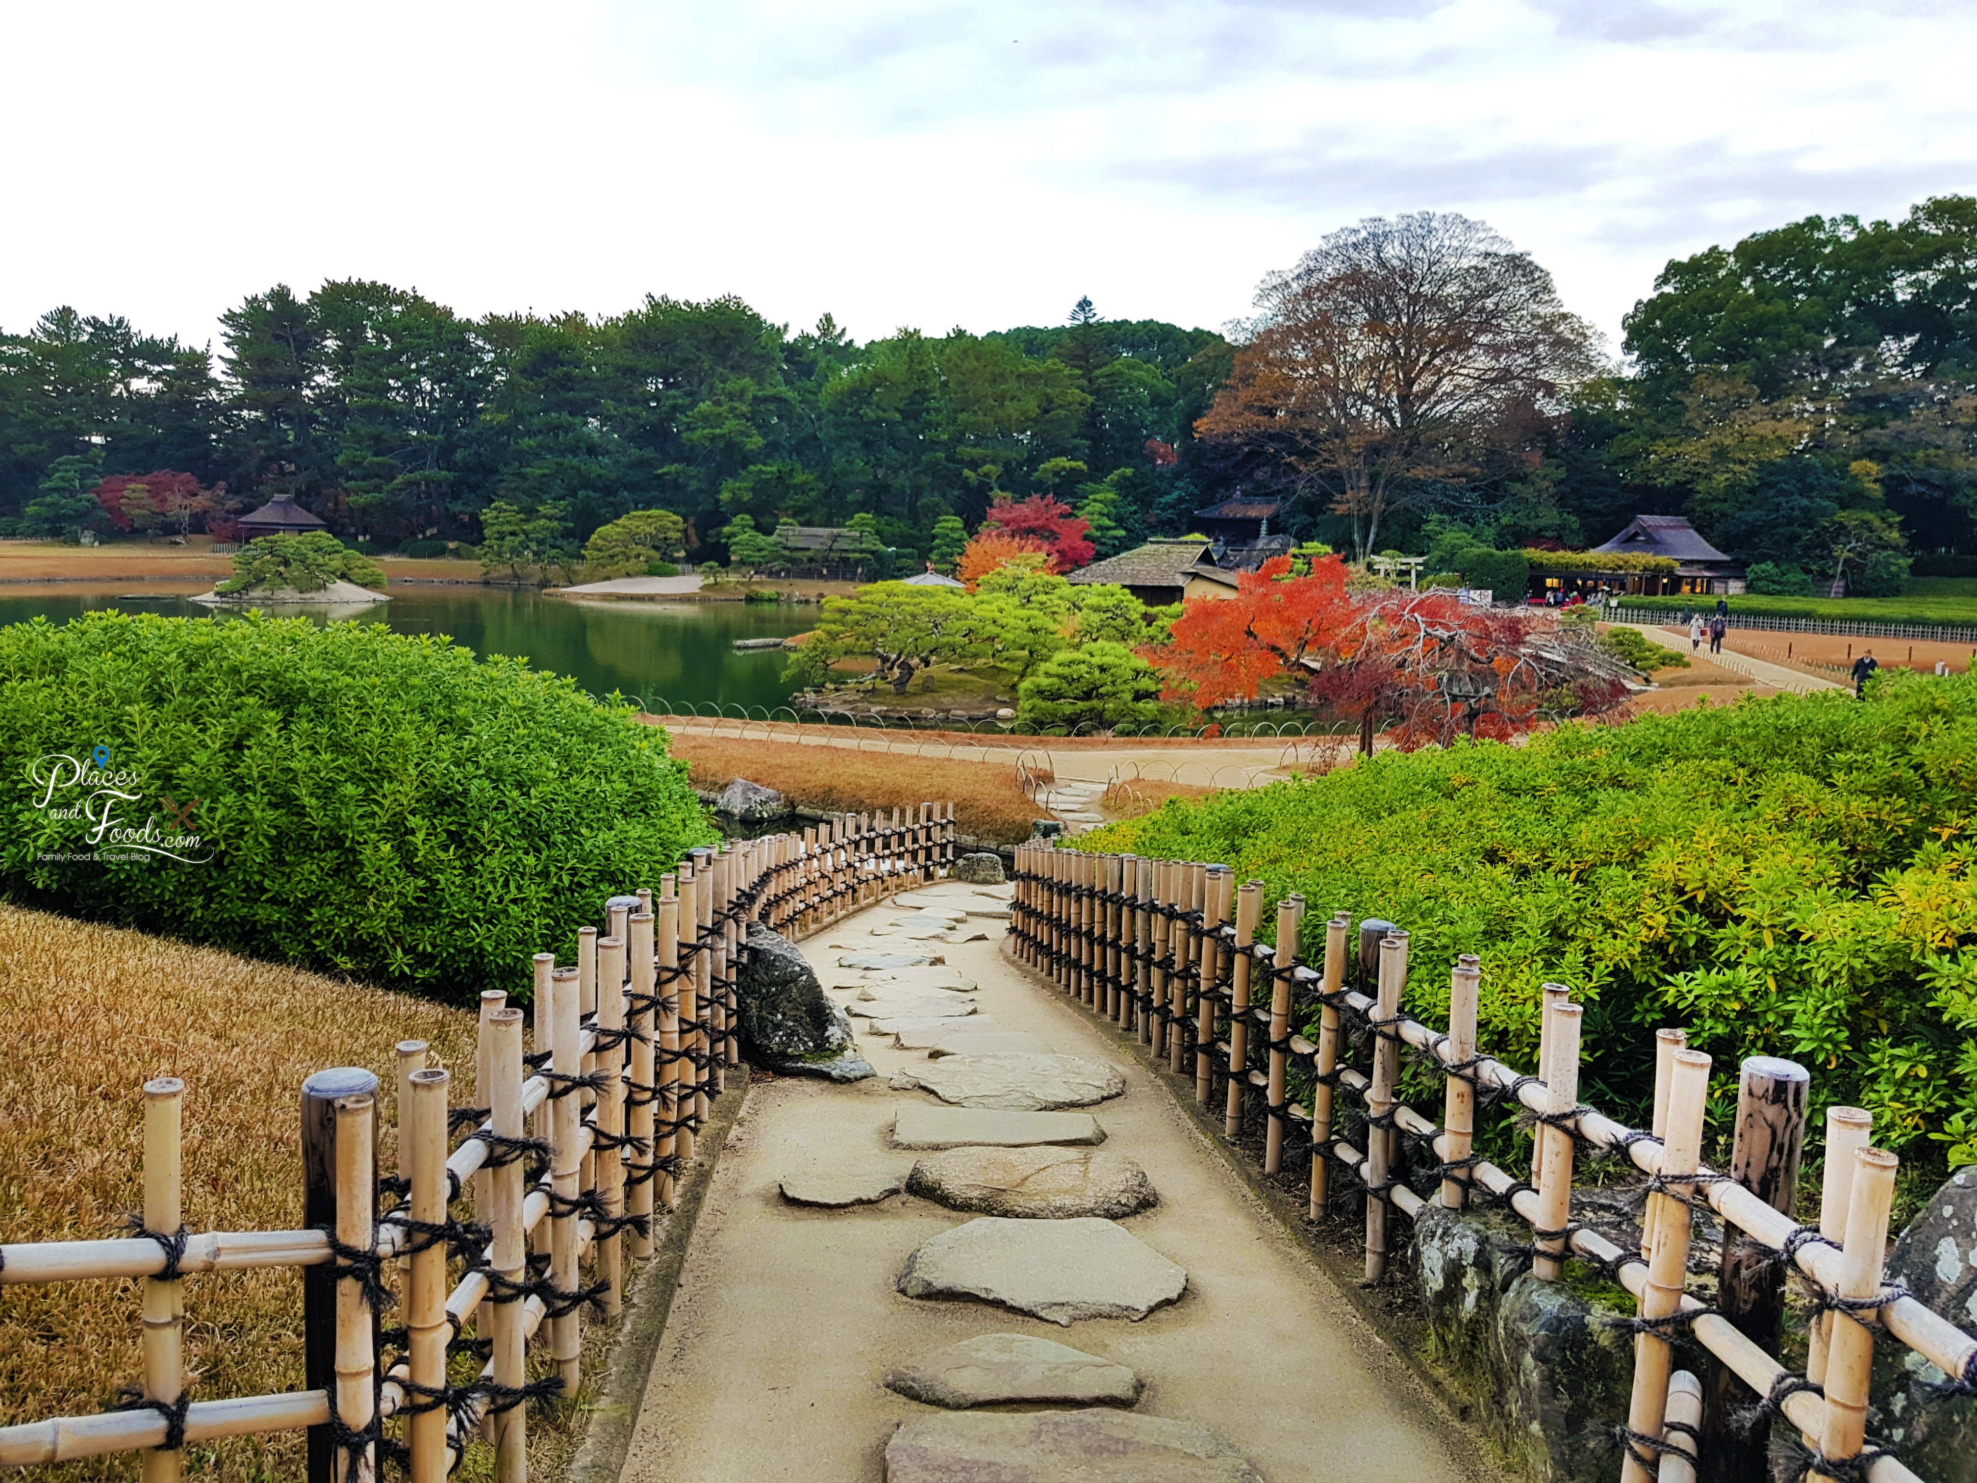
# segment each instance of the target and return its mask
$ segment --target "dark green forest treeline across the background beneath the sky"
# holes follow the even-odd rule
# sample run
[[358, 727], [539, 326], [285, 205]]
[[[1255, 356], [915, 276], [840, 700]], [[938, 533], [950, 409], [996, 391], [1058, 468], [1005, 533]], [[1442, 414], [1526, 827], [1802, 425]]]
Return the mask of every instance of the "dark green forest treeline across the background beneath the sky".
[[[1510, 356], [1550, 346], [1550, 368], [1483, 417], [1471, 399], [1467, 421], [1437, 423], [1388, 372], [1325, 384], [1350, 376], [1342, 360], [1299, 364], [1311, 338], [1271, 334], [1315, 312], [1336, 330], [1325, 295], [1350, 253], [1334, 241], [1358, 249], [1368, 229], [1406, 223], [1435, 227], [1419, 241], [1467, 227], [1455, 235], [1471, 261], [1542, 310], [1514, 344], [1475, 340], [1477, 364], [1497, 356], [1506, 376]], [[1366, 261], [1348, 263], [1356, 291]], [[1354, 332], [1384, 312], [1374, 299], [1354, 299]], [[374, 550], [478, 542], [496, 504], [571, 546], [664, 508], [690, 562], [726, 556], [735, 514], [761, 530], [864, 514], [911, 564], [943, 516], [975, 530], [998, 496], [1075, 506], [1103, 486], [1117, 496], [1103, 556], [1184, 534], [1192, 510], [1240, 486], [1287, 494], [1287, 534], [1356, 552], [1425, 552], [1451, 532], [1584, 546], [1633, 514], [1688, 514], [1781, 569], [1831, 566], [1835, 532], [1890, 554], [1977, 552], [1973, 198], [1898, 221], [1807, 218], [1673, 261], [1627, 314], [1619, 366], [1590, 338], [1578, 354], [1542, 267], [1451, 216], [1334, 233], [1271, 275], [1257, 306], [1234, 340], [1105, 320], [1079, 301], [1054, 326], [860, 344], [830, 316], [791, 332], [735, 297], [467, 318], [338, 281], [247, 297], [214, 348], [63, 306], [0, 334], [0, 534], [129, 528], [130, 479], [168, 471], [184, 477], [182, 522], [293, 494]], [[1451, 306], [1451, 322], [1457, 310], [1477, 312]], [[1311, 413], [1315, 386], [1358, 421]], [[150, 488], [160, 510], [166, 482]], [[1362, 526], [1354, 500], [1374, 482]]]

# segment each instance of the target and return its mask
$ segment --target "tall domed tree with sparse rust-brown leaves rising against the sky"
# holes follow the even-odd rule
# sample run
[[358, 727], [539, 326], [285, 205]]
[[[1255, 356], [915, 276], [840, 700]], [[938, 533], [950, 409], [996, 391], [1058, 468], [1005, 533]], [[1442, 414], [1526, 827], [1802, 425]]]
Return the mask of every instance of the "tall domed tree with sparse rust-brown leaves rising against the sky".
[[1259, 482], [1350, 516], [1360, 560], [1410, 490], [1534, 467], [1566, 390], [1597, 370], [1552, 275], [1445, 212], [1334, 231], [1255, 305], [1196, 429]]

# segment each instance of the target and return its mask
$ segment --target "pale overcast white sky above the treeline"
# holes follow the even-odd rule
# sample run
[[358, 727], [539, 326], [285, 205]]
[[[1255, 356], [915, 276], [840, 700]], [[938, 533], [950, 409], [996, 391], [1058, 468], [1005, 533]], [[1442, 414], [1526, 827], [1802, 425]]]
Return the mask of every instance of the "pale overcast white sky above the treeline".
[[1481, 218], [1617, 346], [1673, 255], [1977, 192], [1971, 0], [156, 0], [0, 18], [0, 328], [273, 283], [735, 293], [858, 338], [1220, 326], [1362, 216]]

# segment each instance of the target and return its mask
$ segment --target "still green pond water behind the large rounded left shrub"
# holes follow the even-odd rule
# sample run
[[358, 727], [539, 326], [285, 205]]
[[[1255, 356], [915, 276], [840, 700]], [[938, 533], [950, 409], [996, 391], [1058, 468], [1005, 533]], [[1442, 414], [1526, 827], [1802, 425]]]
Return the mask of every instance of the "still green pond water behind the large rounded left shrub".
[[[152, 587], [156, 591], [156, 587]], [[188, 587], [198, 591], [198, 587]], [[184, 597], [136, 599], [117, 589], [0, 589], [0, 623], [115, 607], [127, 613], [210, 617]], [[526, 656], [536, 668], [575, 676], [593, 694], [621, 690], [648, 706], [668, 700], [779, 706], [797, 686], [783, 682], [787, 654], [735, 651], [735, 639], [771, 639], [817, 625], [811, 605], [581, 601], [512, 587], [393, 585], [391, 601], [358, 615], [395, 633], [443, 633], [476, 654]], [[322, 621], [322, 619], [318, 619]]]

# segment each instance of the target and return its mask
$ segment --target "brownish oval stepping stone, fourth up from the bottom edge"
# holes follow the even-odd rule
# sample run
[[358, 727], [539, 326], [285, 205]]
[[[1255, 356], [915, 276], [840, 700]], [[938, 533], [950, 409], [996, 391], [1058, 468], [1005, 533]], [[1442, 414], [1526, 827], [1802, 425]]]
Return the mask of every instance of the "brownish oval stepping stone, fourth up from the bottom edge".
[[1014, 1220], [1119, 1220], [1160, 1198], [1133, 1159], [1089, 1149], [949, 1149], [913, 1165], [905, 1188], [949, 1210]]

